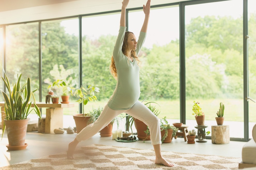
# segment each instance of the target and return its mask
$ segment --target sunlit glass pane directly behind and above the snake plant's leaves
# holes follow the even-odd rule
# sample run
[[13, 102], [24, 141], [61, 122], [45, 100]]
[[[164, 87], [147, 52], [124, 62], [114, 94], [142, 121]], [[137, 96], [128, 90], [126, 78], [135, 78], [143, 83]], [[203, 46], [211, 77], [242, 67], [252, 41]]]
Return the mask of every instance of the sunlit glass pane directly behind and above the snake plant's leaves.
[[[22, 74], [21, 84], [31, 79], [32, 89], [39, 89], [39, 40], [38, 23], [6, 26], [6, 75], [16, 82], [17, 75]], [[39, 90], [35, 93], [39, 100]]]

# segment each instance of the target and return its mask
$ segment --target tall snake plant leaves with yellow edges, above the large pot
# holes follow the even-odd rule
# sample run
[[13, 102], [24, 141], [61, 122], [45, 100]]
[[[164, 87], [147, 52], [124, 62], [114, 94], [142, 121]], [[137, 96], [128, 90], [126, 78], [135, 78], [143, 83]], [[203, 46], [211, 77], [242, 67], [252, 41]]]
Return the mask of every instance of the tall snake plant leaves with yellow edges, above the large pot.
[[[17, 75], [18, 77], [18, 75]], [[31, 90], [31, 83], [30, 78], [27, 79], [27, 83], [24, 85], [20, 85], [20, 79], [21, 74], [18, 77], [18, 80], [16, 83], [12, 83], [12, 89], [10, 82], [4, 74], [4, 77], [2, 77], [2, 80], [7, 88], [7, 91], [9, 93], [8, 95], [1, 90], [2, 97], [4, 99], [4, 112], [5, 112], [5, 118], [4, 120], [25, 120], [27, 119], [27, 116], [32, 111], [35, 111], [37, 116], [41, 119], [41, 112], [39, 108], [36, 105], [34, 92], [37, 90], [32, 91]], [[32, 103], [34, 104], [34, 108], [30, 110]], [[3, 124], [3, 134], [5, 131], [5, 123]]]

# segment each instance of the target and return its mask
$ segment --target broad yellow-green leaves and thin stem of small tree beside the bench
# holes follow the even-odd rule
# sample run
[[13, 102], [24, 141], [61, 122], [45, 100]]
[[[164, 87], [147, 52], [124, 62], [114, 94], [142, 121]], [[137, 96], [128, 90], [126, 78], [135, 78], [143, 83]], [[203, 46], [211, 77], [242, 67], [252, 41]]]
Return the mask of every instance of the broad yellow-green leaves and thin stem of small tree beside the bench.
[[94, 92], [100, 92], [100, 89], [96, 85], [89, 85], [87, 88], [81, 86], [79, 89], [76, 89], [74, 92], [70, 91], [71, 96], [78, 98], [76, 102], [79, 104], [82, 103], [83, 116], [85, 116], [84, 107], [87, 105], [88, 101], [96, 101], [97, 97]]

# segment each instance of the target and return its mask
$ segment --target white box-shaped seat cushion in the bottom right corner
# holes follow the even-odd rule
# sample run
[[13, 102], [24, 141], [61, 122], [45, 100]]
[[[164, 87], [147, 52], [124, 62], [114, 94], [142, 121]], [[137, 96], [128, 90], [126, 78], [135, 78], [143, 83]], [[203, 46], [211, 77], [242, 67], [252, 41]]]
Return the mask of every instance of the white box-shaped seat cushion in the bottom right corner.
[[243, 146], [242, 161], [246, 164], [256, 164], [256, 143], [254, 140], [251, 139]]

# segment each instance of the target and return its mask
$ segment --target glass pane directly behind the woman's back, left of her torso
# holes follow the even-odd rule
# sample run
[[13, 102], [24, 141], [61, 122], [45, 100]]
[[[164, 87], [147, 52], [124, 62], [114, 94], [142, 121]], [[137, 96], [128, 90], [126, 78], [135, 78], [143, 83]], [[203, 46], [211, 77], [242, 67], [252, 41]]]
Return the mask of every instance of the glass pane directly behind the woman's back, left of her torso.
[[114, 13], [82, 18], [82, 84], [94, 84], [100, 88], [100, 93], [95, 93], [97, 102], [88, 102], [85, 113], [99, 106], [104, 107], [115, 90], [116, 80], [109, 66], [120, 16]]

